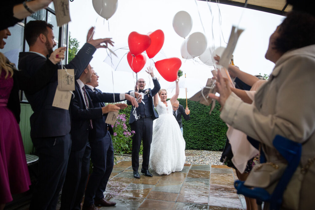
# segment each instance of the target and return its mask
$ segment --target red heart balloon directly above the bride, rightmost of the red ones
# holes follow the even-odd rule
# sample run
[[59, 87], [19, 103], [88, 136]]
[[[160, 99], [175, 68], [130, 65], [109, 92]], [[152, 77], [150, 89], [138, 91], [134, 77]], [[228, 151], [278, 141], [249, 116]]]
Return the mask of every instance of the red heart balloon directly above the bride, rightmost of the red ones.
[[169, 82], [174, 82], [177, 79], [177, 72], [181, 66], [179, 58], [167, 58], [155, 62], [155, 68], [160, 75]]

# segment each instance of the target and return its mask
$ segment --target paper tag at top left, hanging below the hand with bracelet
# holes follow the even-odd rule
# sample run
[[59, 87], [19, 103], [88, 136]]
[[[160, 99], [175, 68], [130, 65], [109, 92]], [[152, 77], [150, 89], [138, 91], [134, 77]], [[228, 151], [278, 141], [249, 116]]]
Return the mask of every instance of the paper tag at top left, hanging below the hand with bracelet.
[[71, 21], [69, 13], [69, 0], [54, 0], [57, 26], [61, 27]]

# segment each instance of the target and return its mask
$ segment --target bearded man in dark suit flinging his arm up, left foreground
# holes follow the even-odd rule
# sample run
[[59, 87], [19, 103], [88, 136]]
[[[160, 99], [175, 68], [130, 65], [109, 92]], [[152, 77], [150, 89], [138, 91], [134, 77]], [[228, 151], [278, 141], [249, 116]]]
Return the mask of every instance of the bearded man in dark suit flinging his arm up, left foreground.
[[[53, 52], [53, 26], [45, 21], [35, 20], [26, 24], [24, 34], [30, 52], [21, 52], [18, 68], [33, 76], [46, 62], [46, 56]], [[93, 28], [88, 32], [91, 37]], [[91, 38], [79, 50], [75, 58], [64, 65], [74, 69], [78, 79], [92, 59], [96, 48], [101, 43], [112, 43], [110, 39]], [[103, 46], [104, 47], [104, 46]], [[105, 46], [106, 47], [106, 46]], [[61, 69], [61, 66], [58, 66]], [[57, 72], [51, 81], [35, 94], [25, 94], [34, 113], [31, 115], [31, 138], [39, 156], [39, 176], [33, 190], [30, 209], [56, 209], [59, 192], [66, 176], [66, 167], [71, 148], [70, 112], [66, 109], [53, 107], [54, 95], [58, 85]]]

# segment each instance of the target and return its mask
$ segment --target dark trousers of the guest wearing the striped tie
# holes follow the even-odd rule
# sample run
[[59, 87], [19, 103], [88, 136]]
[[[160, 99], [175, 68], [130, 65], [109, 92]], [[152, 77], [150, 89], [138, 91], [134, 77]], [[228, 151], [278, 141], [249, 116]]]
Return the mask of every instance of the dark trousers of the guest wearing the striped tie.
[[66, 180], [61, 193], [60, 210], [81, 210], [81, 202], [89, 176], [90, 155], [89, 143], [81, 150], [71, 150]]

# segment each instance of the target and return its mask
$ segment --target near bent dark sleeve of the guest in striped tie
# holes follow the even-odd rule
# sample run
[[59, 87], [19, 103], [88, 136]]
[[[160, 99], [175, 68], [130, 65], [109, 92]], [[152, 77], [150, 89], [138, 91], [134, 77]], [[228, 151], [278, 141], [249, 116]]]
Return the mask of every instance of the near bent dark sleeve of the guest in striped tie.
[[80, 93], [77, 88], [73, 91], [74, 98], [71, 99], [70, 107], [71, 107], [71, 117], [72, 119], [81, 120], [81, 119], [98, 119], [103, 117], [102, 108], [89, 108], [89, 109], [81, 109], [79, 106], [78, 98], [80, 97]]

